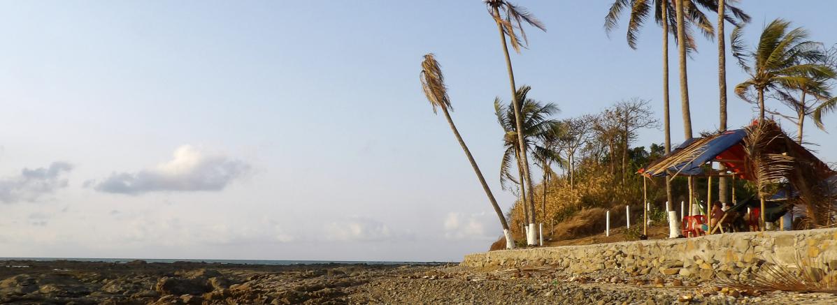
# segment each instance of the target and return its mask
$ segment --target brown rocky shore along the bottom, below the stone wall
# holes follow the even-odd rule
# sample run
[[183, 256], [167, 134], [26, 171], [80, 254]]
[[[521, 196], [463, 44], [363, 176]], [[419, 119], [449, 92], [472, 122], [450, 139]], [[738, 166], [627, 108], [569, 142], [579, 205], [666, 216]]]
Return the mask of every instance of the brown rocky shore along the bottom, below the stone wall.
[[834, 304], [837, 296], [739, 291], [624, 272], [578, 276], [548, 267], [0, 261], [0, 303]]

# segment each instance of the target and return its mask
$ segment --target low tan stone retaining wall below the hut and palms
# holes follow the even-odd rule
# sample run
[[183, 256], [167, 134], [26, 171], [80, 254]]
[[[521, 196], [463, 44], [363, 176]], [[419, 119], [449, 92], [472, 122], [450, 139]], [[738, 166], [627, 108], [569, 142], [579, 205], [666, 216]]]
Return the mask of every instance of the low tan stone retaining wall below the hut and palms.
[[747, 274], [763, 263], [821, 266], [837, 271], [837, 228], [716, 234], [659, 241], [542, 247], [474, 253], [467, 267], [537, 267], [567, 272], [623, 269], [636, 274], [680, 275], [708, 280]]

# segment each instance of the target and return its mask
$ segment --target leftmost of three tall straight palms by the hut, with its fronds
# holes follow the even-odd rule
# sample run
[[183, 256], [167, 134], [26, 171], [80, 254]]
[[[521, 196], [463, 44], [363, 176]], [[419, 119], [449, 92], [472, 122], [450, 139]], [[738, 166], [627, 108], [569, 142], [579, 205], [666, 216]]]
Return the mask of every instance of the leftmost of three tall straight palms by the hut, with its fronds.
[[[707, 9], [716, 9], [717, 4], [711, 0], [689, 0], [690, 8], [686, 16], [685, 22], [688, 28], [696, 26], [704, 35], [711, 36], [712, 25], [709, 23], [706, 15], [701, 12], [698, 7]], [[653, 10], [655, 23], [662, 28], [662, 44], [663, 44], [663, 121], [665, 132], [665, 154], [671, 152], [671, 124], [670, 124], [670, 109], [669, 109], [669, 35], [673, 32], [672, 29], [677, 28], [677, 21], [673, 16], [675, 15], [675, 8], [671, 6], [670, 0], [616, 0], [610, 6], [608, 15], [604, 17], [605, 33], [610, 33], [619, 24], [619, 18], [624, 8], [631, 8], [628, 20], [628, 29], [626, 38], [630, 48], [636, 49], [636, 43], [639, 40], [639, 29], [644, 25], [648, 15]], [[686, 50], [695, 50], [694, 38], [686, 31], [686, 37], [681, 39], [686, 42], [684, 47]], [[679, 39], [675, 36], [675, 39]], [[680, 40], [675, 40], [680, 41]], [[668, 176], [665, 178], [665, 196], [669, 210], [671, 210], [671, 202], [673, 196], [671, 194], [671, 181]]]

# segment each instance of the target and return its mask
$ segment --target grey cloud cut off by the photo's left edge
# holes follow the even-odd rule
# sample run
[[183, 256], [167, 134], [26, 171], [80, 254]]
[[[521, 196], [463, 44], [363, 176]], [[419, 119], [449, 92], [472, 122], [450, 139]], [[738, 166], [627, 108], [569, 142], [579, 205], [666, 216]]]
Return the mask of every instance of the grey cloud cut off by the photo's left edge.
[[62, 175], [72, 169], [67, 162], [53, 162], [49, 167], [34, 170], [24, 168], [20, 175], [0, 180], [0, 201], [37, 201], [41, 196], [67, 187], [67, 179]]

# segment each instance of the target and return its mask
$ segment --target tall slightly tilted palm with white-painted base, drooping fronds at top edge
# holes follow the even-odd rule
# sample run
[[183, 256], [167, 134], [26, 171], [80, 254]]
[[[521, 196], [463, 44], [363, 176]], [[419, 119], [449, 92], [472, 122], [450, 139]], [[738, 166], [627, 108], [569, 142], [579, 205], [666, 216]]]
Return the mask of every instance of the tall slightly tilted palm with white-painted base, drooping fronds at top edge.
[[[506, 0], [485, 0], [485, 5], [488, 8], [488, 13], [491, 15], [491, 18], [494, 18], [495, 23], [497, 23], [497, 30], [500, 31], [500, 40], [503, 47], [503, 53], [506, 55], [506, 70], [509, 74], [509, 84], [511, 85], [511, 104], [515, 107], [515, 118], [516, 118], [516, 128], [517, 130], [523, 130], [523, 122], [521, 120], [521, 109], [520, 103], [521, 101], [516, 99], [516, 90], [517, 87], [515, 85], [515, 74], [514, 70], [511, 69], [511, 57], [509, 55], [509, 48], [506, 45], [506, 35], [509, 36], [509, 43], [511, 43], [511, 48], [514, 48], [517, 53], [520, 53], [521, 46], [525, 47], [528, 43], [528, 39], [526, 38], [526, 32], [523, 30], [523, 23], [529, 24], [535, 28], [540, 28], [542, 31], [546, 31], [547, 28], [532, 16], [531, 13], [526, 11], [526, 8], [517, 7], [514, 4], [509, 3]], [[501, 13], [502, 11], [502, 13]], [[523, 40], [517, 36], [515, 31], [521, 33], [521, 37]], [[526, 236], [526, 243], [529, 245], [536, 245], [536, 236], [534, 233], [535, 231], [535, 201], [533, 199], [534, 193], [532, 191], [532, 184], [531, 184], [531, 175], [529, 175], [529, 160], [526, 158], [526, 143], [523, 140], [523, 135], [517, 135], [517, 145], [520, 147], [521, 150], [521, 165], [523, 167], [523, 174], [526, 178], [526, 187], [528, 187], [528, 201], [529, 201], [529, 232], [530, 234]]]

